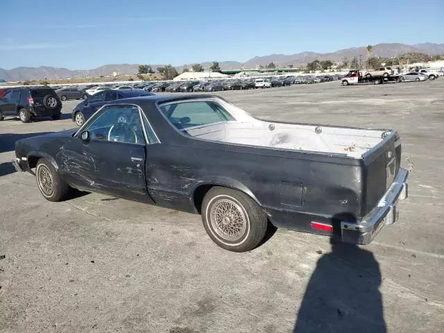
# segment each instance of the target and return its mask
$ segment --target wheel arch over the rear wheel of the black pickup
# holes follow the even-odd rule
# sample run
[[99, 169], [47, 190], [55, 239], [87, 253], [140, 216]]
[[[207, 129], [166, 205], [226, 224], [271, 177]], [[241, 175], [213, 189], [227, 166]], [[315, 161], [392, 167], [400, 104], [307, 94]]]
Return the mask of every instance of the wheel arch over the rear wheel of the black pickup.
[[255, 194], [246, 187], [246, 185], [242, 184], [241, 182], [237, 180], [233, 180], [230, 178], [224, 178], [224, 177], [215, 177], [212, 179], [203, 180], [202, 182], [199, 182], [198, 185], [196, 185], [191, 190], [191, 204], [193, 205], [194, 209], [198, 214], [201, 213], [201, 207], [203, 203], [203, 198], [205, 197], [205, 194], [207, 194], [212, 187], [227, 187], [228, 189], [235, 189], [237, 191], [241, 191], [250, 198], [252, 198], [257, 205], [262, 207], [259, 200], [256, 198]]

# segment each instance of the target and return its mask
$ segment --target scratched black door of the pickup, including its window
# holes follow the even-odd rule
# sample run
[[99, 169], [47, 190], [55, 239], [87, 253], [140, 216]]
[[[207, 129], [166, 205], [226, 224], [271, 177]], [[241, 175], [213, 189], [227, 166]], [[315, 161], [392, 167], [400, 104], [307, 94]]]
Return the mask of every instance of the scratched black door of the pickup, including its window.
[[[126, 115], [126, 123], [119, 123], [119, 114]], [[105, 106], [62, 151], [58, 164], [74, 187], [153, 203], [146, 189], [146, 135], [139, 107]]]

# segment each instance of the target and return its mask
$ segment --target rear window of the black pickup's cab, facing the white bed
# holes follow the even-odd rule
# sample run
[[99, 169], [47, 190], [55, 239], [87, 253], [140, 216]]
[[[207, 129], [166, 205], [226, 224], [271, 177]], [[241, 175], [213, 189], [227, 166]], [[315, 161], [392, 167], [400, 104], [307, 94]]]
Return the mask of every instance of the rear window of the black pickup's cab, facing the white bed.
[[178, 130], [193, 126], [236, 120], [212, 101], [173, 103], [161, 106], [162, 113]]

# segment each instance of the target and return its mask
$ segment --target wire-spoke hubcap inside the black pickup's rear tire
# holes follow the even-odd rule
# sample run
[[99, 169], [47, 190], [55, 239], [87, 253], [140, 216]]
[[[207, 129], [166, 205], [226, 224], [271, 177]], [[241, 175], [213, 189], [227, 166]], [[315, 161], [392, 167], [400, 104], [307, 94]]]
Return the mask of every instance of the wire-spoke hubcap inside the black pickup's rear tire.
[[210, 221], [214, 232], [226, 241], [238, 241], [244, 237], [247, 228], [247, 217], [242, 207], [225, 198], [213, 203]]

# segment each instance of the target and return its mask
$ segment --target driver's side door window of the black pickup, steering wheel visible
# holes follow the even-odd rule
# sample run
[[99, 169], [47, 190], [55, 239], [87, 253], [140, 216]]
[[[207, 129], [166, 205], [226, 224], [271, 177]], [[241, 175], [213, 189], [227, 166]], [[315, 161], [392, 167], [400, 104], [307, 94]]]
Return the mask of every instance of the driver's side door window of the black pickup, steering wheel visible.
[[85, 130], [95, 140], [145, 144], [139, 108], [133, 105], [110, 105]]

